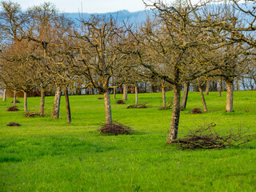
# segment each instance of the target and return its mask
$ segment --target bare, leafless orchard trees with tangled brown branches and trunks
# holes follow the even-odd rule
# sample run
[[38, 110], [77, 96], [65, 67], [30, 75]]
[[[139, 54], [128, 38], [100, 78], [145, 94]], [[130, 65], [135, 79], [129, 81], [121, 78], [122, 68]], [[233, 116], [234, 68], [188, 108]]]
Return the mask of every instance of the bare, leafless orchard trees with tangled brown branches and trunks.
[[[210, 81], [219, 80], [219, 85], [225, 81], [226, 112], [232, 112], [235, 79], [256, 82], [256, 4], [210, 0], [144, 3], [154, 17], [135, 25], [95, 15], [89, 20], [82, 14], [76, 20], [66, 18], [50, 3], [22, 11], [17, 3], [1, 2], [2, 87], [24, 92], [26, 112], [27, 93], [34, 87], [40, 89], [41, 115], [45, 91], [53, 87], [52, 118], [58, 118], [63, 90], [68, 123], [69, 88], [93, 87], [104, 94], [106, 124], [111, 124], [110, 91], [124, 85], [126, 93], [127, 85], [133, 85], [138, 103], [138, 85], [158, 82], [166, 107], [167, 83], [174, 90], [167, 143], [177, 138], [180, 110], [186, 109], [190, 83], [198, 86], [207, 111], [202, 86], [209, 88]], [[219, 90], [221, 94], [221, 86]]]

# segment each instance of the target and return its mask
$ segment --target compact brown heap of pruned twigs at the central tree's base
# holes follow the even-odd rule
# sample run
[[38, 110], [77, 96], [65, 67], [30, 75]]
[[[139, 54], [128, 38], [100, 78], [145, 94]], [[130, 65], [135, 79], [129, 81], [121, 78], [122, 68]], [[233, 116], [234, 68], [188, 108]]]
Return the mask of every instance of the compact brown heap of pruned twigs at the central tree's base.
[[122, 125], [118, 122], [104, 124], [98, 130], [101, 134], [131, 134], [133, 131], [129, 126]]

